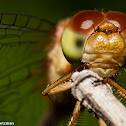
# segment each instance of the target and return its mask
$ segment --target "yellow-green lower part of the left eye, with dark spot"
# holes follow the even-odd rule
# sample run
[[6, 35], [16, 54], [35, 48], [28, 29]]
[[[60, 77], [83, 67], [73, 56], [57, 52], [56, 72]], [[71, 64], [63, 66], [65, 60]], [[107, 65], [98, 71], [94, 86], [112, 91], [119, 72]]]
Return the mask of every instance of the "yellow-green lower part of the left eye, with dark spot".
[[81, 62], [80, 59], [86, 39], [87, 35], [71, 31], [68, 28], [65, 29], [62, 37], [62, 50], [70, 63]]

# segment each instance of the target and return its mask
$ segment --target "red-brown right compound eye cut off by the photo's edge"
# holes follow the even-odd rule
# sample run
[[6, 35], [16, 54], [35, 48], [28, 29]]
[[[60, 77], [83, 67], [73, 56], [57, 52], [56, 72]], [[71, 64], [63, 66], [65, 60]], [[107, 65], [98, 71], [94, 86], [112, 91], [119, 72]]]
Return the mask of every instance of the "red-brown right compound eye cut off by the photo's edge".
[[[123, 30], [126, 27], [126, 14], [117, 11], [110, 11], [105, 15], [106, 20], [113, 23], [119, 30]], [[124, 29], [122, 33], [126, 36], [126, 29]]]

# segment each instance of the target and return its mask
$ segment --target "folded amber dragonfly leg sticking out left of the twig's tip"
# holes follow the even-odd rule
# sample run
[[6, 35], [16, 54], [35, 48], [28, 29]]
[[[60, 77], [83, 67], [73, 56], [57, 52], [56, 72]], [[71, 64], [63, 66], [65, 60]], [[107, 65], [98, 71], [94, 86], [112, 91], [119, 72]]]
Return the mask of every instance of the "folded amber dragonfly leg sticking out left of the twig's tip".
[[49, 87], [47, 87], [42, 94], [43, 95], [51, 95], [58, 92], [62, 92], [65, 90], [68, 90], [71, 88], [71, 81], [69, 81], [69, 78], [71, 77], [72, 73], [60, 78], [53, 84], [51, 84]]

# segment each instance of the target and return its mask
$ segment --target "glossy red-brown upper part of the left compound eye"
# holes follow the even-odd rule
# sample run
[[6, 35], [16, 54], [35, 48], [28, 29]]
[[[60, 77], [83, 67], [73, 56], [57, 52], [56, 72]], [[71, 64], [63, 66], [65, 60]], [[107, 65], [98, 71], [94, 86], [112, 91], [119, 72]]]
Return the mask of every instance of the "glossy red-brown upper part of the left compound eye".
[[71, 18], [68, 28], [89, 35], [94, 30], [93, 27], [97, 27], [104, 20], [105, 16], [101, 12], [95, 10], [81, 11]]

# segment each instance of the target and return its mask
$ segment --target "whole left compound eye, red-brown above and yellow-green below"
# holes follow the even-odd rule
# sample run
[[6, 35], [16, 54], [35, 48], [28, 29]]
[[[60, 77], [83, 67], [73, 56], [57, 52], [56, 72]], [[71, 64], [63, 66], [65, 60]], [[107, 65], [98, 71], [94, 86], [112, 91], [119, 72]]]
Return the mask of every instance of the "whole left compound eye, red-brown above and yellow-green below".
[[62, 37], [62, 50], [70, 63], [81, 61], [86, 39], [103, 21], [104, 15], [94, 10], [81, 11], [70, 19]]

